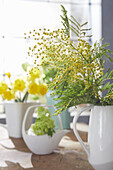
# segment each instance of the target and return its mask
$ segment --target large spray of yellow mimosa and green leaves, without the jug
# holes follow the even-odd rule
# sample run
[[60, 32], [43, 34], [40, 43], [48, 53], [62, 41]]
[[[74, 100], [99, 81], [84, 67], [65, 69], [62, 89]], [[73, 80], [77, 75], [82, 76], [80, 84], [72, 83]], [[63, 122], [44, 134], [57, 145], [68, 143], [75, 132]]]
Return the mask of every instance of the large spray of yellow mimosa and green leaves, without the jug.
[[[102, 44], [103, 39], [91, 45], [87, 41], [92, 36], [88, 34], [91, 30], [87, 28], [88, 23], [80, 24], [73, 16], [68, 18], [65, 8], [61, 8], [64, 29], [34, 30], [32, 36], [38, 42], [29, 50], [35, 62], [36, 58], [41, 61], [37, 65], [43, 66], [46, 72], [49, 70], [49, 87], [53, 97], [58, 96], [56, 114], [84, 103], [113, 105], [113, 84], [108, 83], [113, 80], [113, 71], [104, 73], [104, 57], [113, 62], [110, 56], [113, 51], [108, 49], [109, 44]], [[71, 40], [70, 30], [77, 36], [77, 42]]]

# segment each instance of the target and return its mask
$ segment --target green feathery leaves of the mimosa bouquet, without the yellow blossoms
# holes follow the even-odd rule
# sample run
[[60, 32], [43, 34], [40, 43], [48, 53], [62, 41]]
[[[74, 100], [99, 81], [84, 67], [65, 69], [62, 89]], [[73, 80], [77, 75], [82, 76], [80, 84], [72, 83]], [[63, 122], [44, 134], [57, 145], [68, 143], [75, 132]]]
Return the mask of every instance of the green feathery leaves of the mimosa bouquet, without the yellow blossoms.
[[[65, 11], [64, 7], [63, 10]], [[87, 22], [80, 25], [73, 16], [71, 16], [71, 19], [68, 19], [67, 15], [65, 19], [62, 19], [65, 22], [66, 20], [70, 21], [68, 28], [70, 28], [72, 32], [80, 39], [91, 37], [91, 35], [87, 35], [87, 32], [91, 29], [83, 28], [84, 26], [87, 26]], [[109, 44], [102, 44], [102, 40], [103, 39], [101, 39], [99, 42], [96, 42], [94, 44], [94, 47], [91, 46], [92, 50], [89, 58], [82, 55], [82, 60], [85, 59], [84, 67], [88, 63], [88, 70], [91, 70], [89, 77], [87, 77], [86, 73], [84, 73], [82, 79], [76, 79], [76, 81], [72, 82], [72, 78], [68, 77], [67, 80], [65, 80], [65, 75], [63, 75], [63, 80], [59, 81], [59, 83], [57, 84], [57, 89], [55, 89], [53, 95], [57, 95], [58, 98], [56, 98], [56, 100], [60, 101], [56, 104], [57, 114], [61, 113], [61, 111], [67, 109], [68, 107], [76, 106], [83, 103], [93, 105], [113, 105], [113, 83], [109, 82], [110, 80], [113, 80], [113, 70], [108, 69], [105, 74], [103, 73], [105, 62], [103, 56], [108, 58], [110, 62], [113, 62], [113, 58], [110, 56], [110, 54], [113, 54], [113, 51], [107, 49], [106, 47], [108, 47]], [[97, 70], [101, 70], [104, 75], [100, 74], [98, 76], [95, 76], [96, 72], [98, 71], [90, 68], [92, 67], [91, 63], [93, 63], [94, 61], [96, 61], [95, 64], [99, 64], [99, 68]], [[87, 87], [86, 81], [88, 84]], [[102, 96], [103, 92], [105, 92], [105, 96]]]

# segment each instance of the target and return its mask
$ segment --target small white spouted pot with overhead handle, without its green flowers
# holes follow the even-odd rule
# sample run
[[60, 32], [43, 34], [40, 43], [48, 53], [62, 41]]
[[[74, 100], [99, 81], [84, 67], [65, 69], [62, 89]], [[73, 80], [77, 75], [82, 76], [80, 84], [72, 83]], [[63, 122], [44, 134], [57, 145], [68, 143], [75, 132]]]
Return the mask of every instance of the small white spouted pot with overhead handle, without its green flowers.
[[[54, 151], [54, 149], [57, 148], [61, 138], [70, 130], [62, 129], [62, 122], [59, 117], [59, 123], [60, 123], [60, 129], [56, 131], [52, 137], [48, 135], [29, 135], [28, 129], [31, 126], [31, 123], [27, 120], [29, 116], [33, 115], [34, 112], [31, 113], [31, 109], [36, 109], [37, 107], [54, 107], [54, 106], [48, 106], [48, 105], [34, 105], [30, 106], [24, 116], [23, 125], [22, 125], [22, 135], [23, 139], [28, 146], [28, 148], [35, 154], [39, 155], [45, 155], [50, 154]], [[26, 126], [27, 125], [27, 126]]]

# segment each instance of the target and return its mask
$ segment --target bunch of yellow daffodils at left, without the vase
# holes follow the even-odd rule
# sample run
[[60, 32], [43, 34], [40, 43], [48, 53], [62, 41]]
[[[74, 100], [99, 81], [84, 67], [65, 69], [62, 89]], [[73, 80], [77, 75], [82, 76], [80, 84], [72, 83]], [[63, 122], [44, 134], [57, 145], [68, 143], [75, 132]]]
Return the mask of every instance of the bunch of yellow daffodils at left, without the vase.
[[0, 95], [3, 100], [13, 102], [26, 102], [29, 95], [44, 96], [48, 87], [43, 82], [41, 71], [34, 67], [29, 71], [29, 74], [20, 78], [14, 79], [10, 73], [6, 73], [8, 77], [0, 82]]

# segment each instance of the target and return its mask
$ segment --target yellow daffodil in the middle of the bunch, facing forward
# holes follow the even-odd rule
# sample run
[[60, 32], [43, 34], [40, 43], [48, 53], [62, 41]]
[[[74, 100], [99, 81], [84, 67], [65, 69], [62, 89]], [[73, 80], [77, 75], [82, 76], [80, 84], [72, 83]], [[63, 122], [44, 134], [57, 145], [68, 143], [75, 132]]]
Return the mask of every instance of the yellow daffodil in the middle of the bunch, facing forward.
[[15, 91], [23, 91], [26, 88], [25, 81], [22, 79], [16, 79], [14, 82]]

